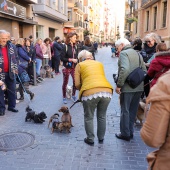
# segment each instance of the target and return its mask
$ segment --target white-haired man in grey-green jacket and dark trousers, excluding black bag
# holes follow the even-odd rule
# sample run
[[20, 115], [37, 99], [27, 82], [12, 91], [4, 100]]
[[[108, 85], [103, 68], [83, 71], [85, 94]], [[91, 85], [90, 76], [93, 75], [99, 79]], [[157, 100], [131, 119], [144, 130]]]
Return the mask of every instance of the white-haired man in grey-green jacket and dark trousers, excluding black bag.
[[115, 134], [115, 136], [118, 139], [130, 141], [133, 138], [133, 126], [140, 97], [143, 92], [143, 82], [133, 89], [126, 82], [126, 78], [137, 67], [140, 66], [144, 71], [146, 71], [146, 67], [142, 57], [132, 49], [127, 39], [121, 38], [116, 41], [115, 45], [118, 52], [120, 52], [116, 93], [120, 95], [121, 107], [120, 133]]

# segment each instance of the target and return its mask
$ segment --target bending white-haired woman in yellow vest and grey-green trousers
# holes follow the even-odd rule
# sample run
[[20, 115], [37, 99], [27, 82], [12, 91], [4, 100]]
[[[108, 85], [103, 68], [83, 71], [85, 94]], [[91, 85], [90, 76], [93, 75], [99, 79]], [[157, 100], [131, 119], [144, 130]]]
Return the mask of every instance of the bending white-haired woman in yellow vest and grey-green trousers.
[[112, 97], [113, 88], [107, 81], [103, 64], [93, 60], [90, 52], [82, 50], [75, 68], [75, 86], [80, 91], [84, 108], [84, 124], [87, 137], [84, 142], [94, 145], [94, 111], [97, 109], [97, 137], [103, 143], [106, 131], [106, 111]]

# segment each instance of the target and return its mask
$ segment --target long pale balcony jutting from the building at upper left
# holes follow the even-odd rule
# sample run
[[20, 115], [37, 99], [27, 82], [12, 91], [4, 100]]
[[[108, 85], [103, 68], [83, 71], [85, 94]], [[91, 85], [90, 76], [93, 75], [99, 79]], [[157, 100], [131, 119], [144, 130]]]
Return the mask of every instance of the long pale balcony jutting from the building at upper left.
[[33, 5], [33, 13], [42, 15], [46, 18], [50, 18], [52, 20], [58, 22], [66, 22], [67, 16], [62, 14], [61, 12], [45, 5], [45, 4], [34, 4]]

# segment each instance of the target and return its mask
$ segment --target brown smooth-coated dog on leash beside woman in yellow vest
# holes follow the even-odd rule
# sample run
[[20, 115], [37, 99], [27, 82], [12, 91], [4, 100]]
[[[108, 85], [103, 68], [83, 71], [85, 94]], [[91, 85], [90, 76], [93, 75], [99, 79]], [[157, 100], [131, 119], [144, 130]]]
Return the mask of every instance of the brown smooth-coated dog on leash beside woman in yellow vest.
[[63, 129], [66, 129], [68, 133], [71, 133], [70, 128], [73, 127], [73, 125], [72, 125], [71, 115], [69, 113], [68, 107], [63, 106], [58, 111], [63, 112], [63, 115], [61, 117], [61, 123], [59, 124], [59, 127], [58, 127], [60, 132], [62, 132]]

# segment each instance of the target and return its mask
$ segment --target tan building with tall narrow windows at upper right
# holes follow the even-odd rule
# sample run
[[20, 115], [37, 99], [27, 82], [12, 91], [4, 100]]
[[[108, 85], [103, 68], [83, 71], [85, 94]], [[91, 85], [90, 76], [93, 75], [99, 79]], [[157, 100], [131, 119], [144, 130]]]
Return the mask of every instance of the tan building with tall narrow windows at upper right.
[[136, 0], [134, 7], [138, 22], [133, 25], [133, 37], [143, 38], [154, 32], [170, 47], [170, 1]]

